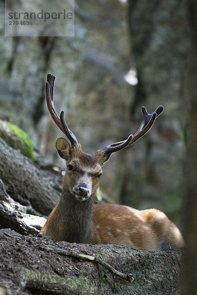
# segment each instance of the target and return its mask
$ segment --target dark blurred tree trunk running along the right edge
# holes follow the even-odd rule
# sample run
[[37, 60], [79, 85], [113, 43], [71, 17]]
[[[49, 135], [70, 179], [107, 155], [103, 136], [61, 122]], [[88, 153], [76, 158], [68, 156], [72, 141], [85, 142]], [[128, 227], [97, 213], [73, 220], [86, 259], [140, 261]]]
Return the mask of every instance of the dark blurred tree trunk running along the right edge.
[[182, 295], [197, 294], [197, 1], [188, 1], [192, 51], [187, 77], [188, 158], [186, 161], [186, 200], [184, 206], [186, 253]]

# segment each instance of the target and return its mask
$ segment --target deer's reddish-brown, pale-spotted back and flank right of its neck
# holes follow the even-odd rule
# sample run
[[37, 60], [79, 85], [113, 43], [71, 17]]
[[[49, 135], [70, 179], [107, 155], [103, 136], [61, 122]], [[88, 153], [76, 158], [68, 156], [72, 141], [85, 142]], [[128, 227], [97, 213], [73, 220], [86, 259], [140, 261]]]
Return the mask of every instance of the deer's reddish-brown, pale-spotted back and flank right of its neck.
[[184, 246], [178, 228], [157, 209], [94, 205], [92, 233], [87, 242], [121, 244], [134, 249], [161, 250]]

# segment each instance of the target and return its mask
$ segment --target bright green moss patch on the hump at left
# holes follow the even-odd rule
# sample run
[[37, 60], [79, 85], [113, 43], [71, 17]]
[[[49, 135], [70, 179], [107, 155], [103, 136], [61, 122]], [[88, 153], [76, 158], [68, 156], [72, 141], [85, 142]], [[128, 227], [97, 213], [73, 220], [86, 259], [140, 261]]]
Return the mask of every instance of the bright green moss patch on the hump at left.
[[19, 141], [16, 141], [14, 143], [14, 148], [20, 148], [21, 149], [21, 152], [35, 160], [35, 156], [33, 155], [33, 144], [32, 144], [32, 141], [31, 139], [29, 138], [29, 136], [27, 135], [27, 133], [25, 133], [24, 131], [21, 130], [21, 128], [19, 128], [18, 126], [10, 123], [10, 122], [7, 122], [7, 126], [8, 128], [10, 129], [10, 131], [18, 138], [22, 141], [23, 145], [24, 145], [24, 148], [21, 148], [21, 145], [20, 145], [20, 142]]

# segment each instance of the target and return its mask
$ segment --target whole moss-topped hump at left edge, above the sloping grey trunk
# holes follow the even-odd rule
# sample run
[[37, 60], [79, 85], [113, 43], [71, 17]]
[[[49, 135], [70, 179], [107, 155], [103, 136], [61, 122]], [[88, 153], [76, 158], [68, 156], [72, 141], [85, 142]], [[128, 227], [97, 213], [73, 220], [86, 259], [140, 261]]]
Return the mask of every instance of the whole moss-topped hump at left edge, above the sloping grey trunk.
[[18, 126], [0, 120], [0, 137], [6, 141], [6, 143], [16, 149], [20, 149], [22, 154], [36, 160], [33, 155], [33, 144], [27, 133], [25, 133]]

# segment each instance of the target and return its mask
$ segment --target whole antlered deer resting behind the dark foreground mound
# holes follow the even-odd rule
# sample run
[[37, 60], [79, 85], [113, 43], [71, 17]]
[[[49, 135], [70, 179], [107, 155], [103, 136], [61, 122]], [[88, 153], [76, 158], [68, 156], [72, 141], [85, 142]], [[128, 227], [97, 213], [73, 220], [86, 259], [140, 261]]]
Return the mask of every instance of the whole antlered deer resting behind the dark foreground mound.
[[184, 239], [180, 231], [160, 210], [94, 204], [102, 167], [111, 154], [131, 146], [145, 135], [162, 113], [163, 106], [152, 114], [142, 107], [143, 119], [134, 135], [88, 154], [68, 129], [64, 111], [59, 117], [54, 108], [54, 81], [55, 76], [49, 73], [45, 96], [51, 117], [67, 138], [56, 140], [58, 154], [66, 160], [66, 174], [60, 200], [48, 216], [40, 235], [56, 241], [119, 244], [144, 251], [183, 247]]

